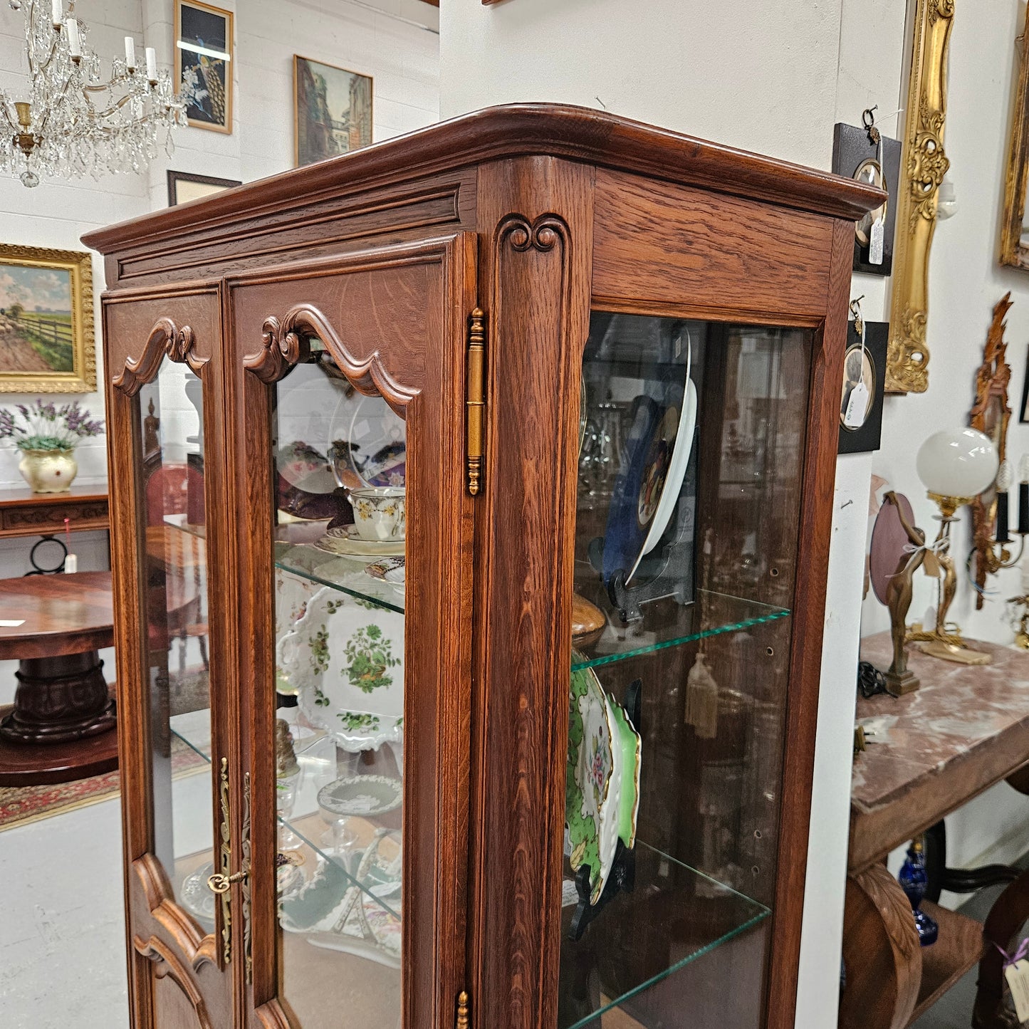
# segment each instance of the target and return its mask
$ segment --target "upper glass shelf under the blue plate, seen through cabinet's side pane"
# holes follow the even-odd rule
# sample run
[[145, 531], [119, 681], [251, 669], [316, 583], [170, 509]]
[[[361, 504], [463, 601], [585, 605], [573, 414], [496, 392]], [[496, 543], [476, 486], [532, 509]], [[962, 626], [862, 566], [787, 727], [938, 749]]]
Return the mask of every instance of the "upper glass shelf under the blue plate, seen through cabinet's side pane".
[[602, 587], [588, 590], [579, 584], [577, 592], [604, 612], [607, 624], [595, 643], [575, 645], [581, 660], [572, 662], [573, 672], [681, 646], [709, 636], [740, 632], [789, 615], [784, 607], [698, 590], [697, 599], [690, 604], [680, 604], [666, 597], [645, 604], [642, 619], [624, 625]]

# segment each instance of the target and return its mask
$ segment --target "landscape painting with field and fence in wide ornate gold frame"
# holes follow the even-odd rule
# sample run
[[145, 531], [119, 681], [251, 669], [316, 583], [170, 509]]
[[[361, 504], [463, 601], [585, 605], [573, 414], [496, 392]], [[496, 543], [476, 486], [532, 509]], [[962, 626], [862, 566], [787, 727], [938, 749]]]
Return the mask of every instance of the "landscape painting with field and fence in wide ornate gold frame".
[[0, 244], [0, 393], [92, 393], [93, 258]]

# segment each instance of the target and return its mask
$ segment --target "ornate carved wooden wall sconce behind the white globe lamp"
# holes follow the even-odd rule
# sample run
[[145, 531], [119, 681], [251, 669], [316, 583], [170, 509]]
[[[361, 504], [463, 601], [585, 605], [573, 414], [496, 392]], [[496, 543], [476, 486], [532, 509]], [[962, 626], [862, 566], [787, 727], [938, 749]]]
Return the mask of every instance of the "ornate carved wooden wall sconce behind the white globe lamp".
[[[1005, 360], [1007, 344], [1004, 343], [1004, 318], [1012, 306], [1012, 294], [1005, 293], [993, 309], [993, 323], [986, 338], [983, 363], [975, 375], [975, 402], [968, 424], [985, 432], [997, 448], [1001, 466], [1007, 450], [1007, 423], [1012, 409], [1007, 401], [1007, 386], [1012, 379], [1010, 365]], [[986, 576], [995, 574], [999, 564], [991, 540], [997, 521], [996, 484], [981, 493], [971, 502], [972, 540], [974, 547], [974, 576], [977, 586], [975, 607], [983, 606], [983, 588]]]

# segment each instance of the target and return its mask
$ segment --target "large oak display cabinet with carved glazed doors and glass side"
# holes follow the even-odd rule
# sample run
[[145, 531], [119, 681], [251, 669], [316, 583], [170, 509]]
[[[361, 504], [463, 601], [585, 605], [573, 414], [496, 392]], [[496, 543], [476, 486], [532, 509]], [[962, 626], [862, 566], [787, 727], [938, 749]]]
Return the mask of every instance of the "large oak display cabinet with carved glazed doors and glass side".
[[84, 238], [134, 1026], [792, 1025], [879, 203], [526, 105]]

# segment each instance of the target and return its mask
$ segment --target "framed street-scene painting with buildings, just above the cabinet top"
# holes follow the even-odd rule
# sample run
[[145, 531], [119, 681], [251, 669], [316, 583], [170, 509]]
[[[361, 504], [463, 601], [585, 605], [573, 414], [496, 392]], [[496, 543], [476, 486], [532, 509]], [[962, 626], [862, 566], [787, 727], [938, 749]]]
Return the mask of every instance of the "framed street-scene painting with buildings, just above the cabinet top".
[[293, 57], [296, 167], [371, 142], [371, 76]]

